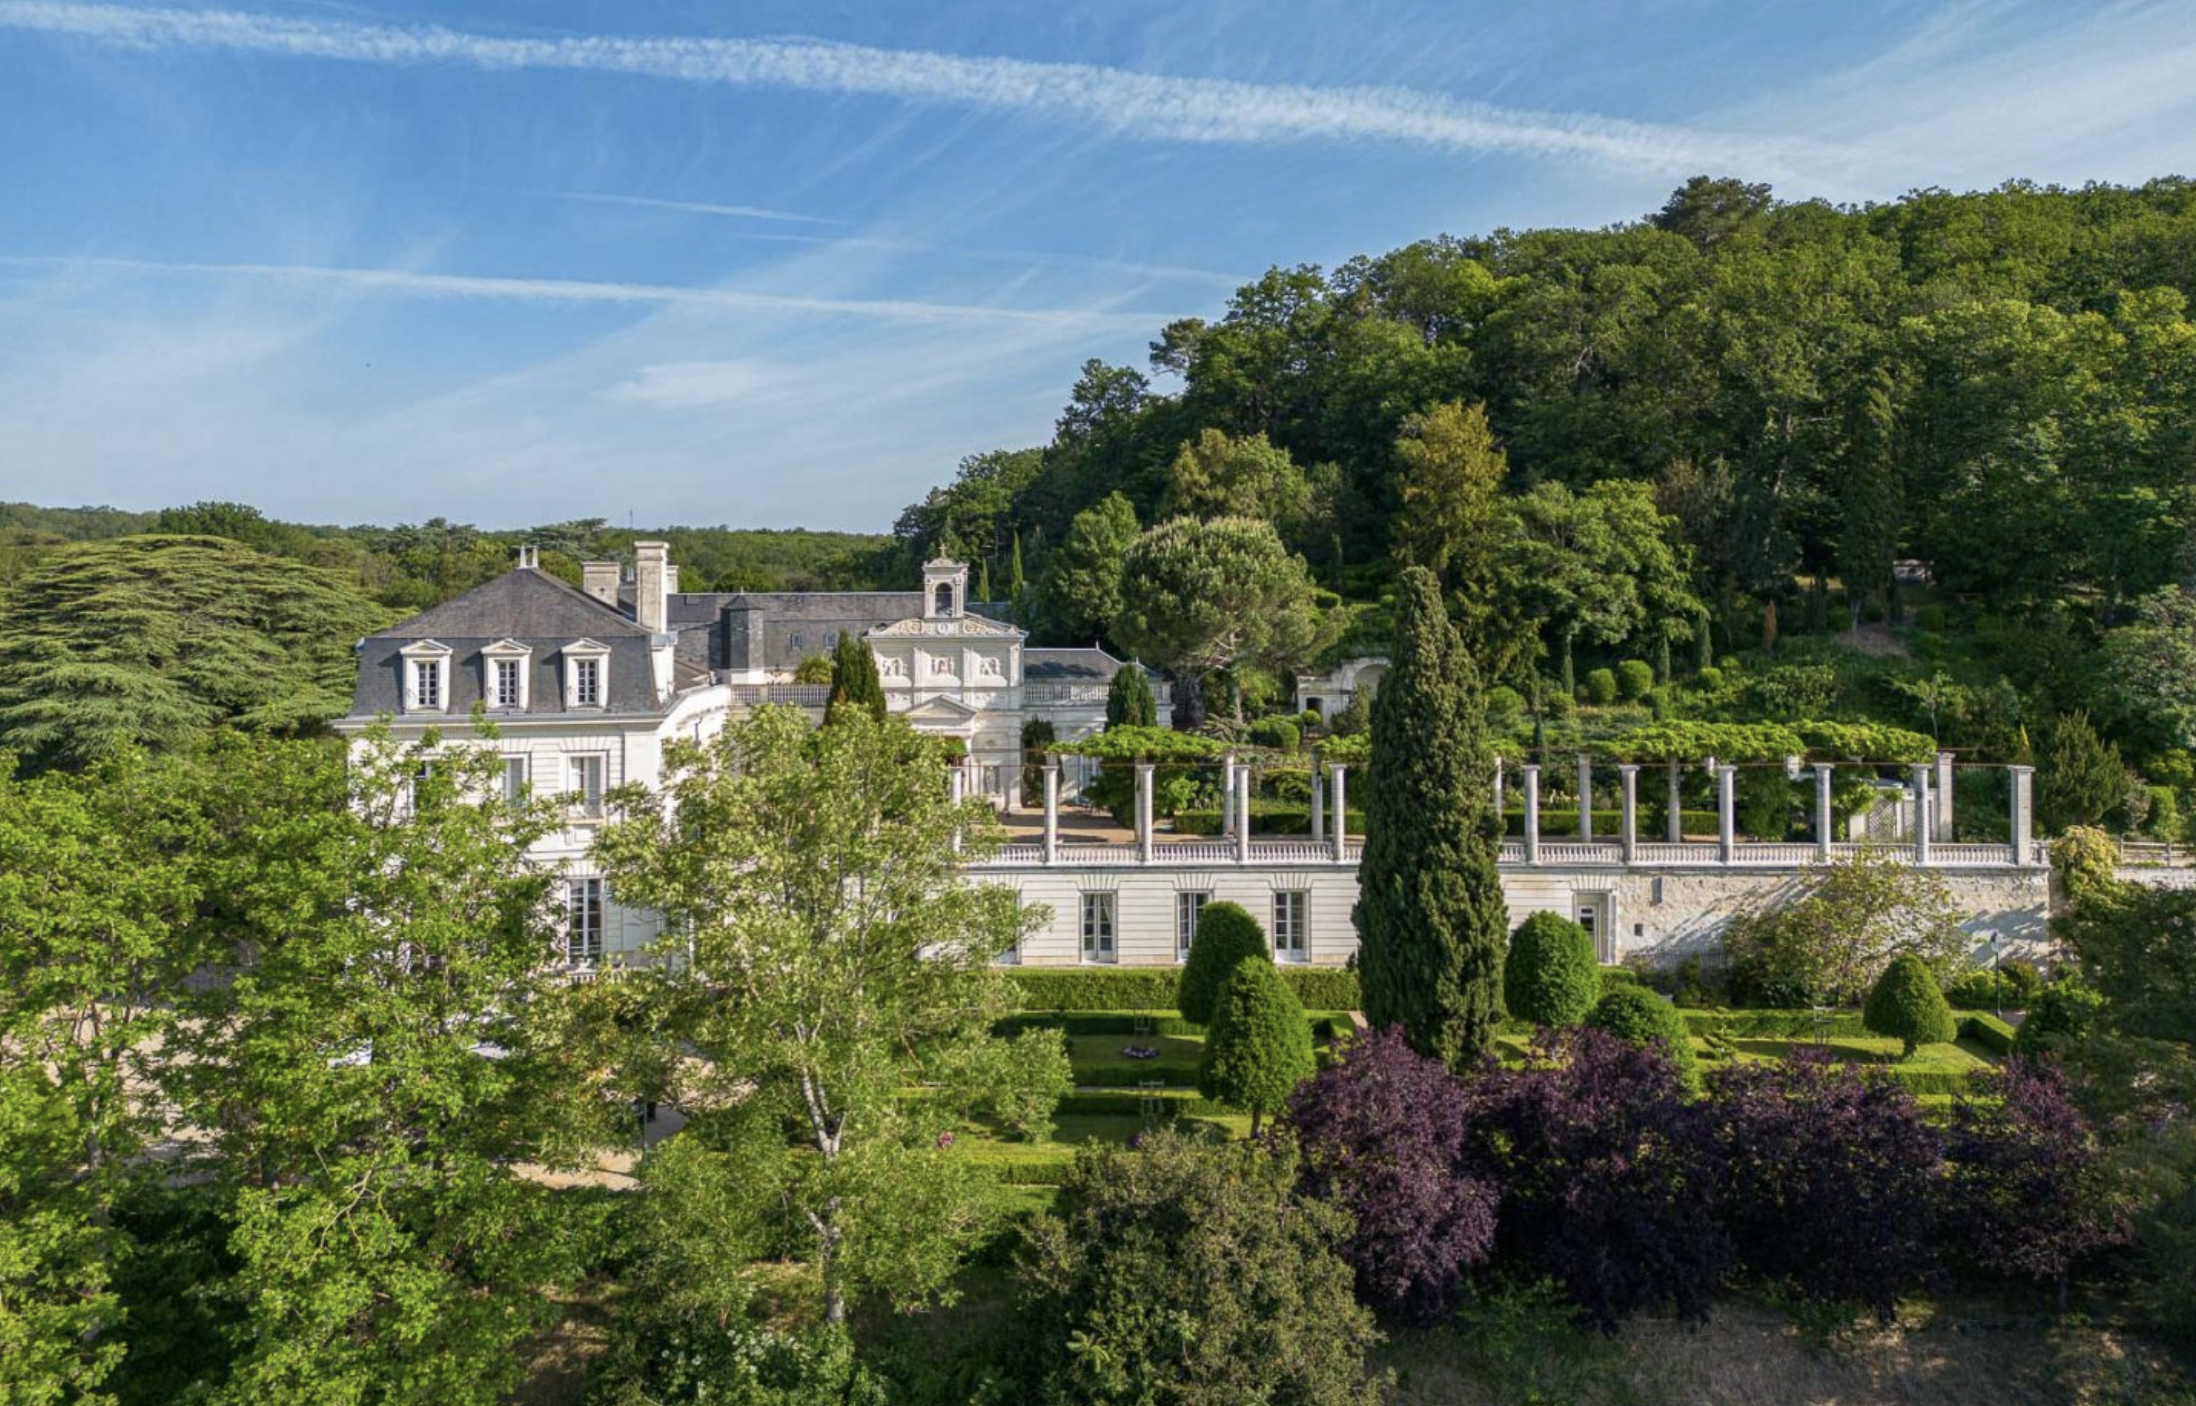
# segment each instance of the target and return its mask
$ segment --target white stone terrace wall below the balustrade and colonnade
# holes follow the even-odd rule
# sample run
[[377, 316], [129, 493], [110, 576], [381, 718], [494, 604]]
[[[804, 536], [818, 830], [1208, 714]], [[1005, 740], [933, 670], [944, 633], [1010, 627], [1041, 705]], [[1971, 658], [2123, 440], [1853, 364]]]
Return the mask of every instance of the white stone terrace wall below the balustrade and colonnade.
[[[2049, 951], [2051, 877], [2040, 868], [1937, 868], [1968, 912], [1976, 947], [1998, 938], [1996, 953], [2042, 956]], [[1515, 927], [1533, 912], [1577, 918], [1594, 910], [1601, 958], [1621, 962], [1640, 956], [1654, 964], [1713, 953], [1735, 916], [1755, 907], [1777, 907], [1805, 894], [1820, 870], [1792, 868], [1502, 868], [1502, 896]], [[1021, 945], [1030, 967], [1074, 967], [1083, 962], [1083, 894], [1116, 894], [1116, 964], [1164, 967], [1175, 956], [1175, 894], [1206, 892], [1241, 903], [1271, 931], [1274, 894], [1309, 894], [1309, 962], [1340, 967], [1357, 951], [1351, 907], [1357, 903], [1357, 868], [1337, 863], [1214, 863], [1214, 866], [979, 866], [977, 883], [1001, 883], [1021, 894], [1023, 905], [1047, 905], [1052, 916]]]

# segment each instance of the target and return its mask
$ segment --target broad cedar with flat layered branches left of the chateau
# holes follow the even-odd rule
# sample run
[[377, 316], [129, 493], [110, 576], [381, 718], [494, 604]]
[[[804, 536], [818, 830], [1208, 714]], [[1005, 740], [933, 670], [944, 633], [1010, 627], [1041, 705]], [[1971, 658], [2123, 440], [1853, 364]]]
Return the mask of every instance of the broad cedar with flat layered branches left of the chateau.
[[349, 712], [351, 646], [384, 624], [336, 576], [222, 538], [64, 547], [0, 615], [0, 747], [44, 769], [224, 723], [316, 732]]

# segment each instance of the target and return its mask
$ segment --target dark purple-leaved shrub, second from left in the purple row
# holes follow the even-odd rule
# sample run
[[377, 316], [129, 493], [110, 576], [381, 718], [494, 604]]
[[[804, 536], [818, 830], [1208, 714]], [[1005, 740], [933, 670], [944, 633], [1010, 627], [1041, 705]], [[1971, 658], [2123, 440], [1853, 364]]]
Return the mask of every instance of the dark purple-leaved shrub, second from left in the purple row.
[[1656, 1305], [1702, 1323], [1730, 1263], [1706, 1114], [1658, 1048], [1542, 1030], [1471, 1083], [1467, 1164], [1502, 1189], [1498, 1246], [1603, 1331]]

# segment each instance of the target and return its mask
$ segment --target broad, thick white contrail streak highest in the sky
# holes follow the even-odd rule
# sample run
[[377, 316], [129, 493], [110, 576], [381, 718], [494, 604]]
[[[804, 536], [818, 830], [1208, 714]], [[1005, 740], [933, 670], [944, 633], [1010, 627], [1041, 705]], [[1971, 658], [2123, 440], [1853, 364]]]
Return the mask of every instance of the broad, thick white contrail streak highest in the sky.
[[1443, 152], [1590, 158], [1627, 167], [1792, 171], [1836, 154], [1799, 138], [1531, 112], [1410, 88], [1247, 83], [821, 40], [582, 35], [523, 40], [444, 26], [288, 20], [239, 11], [0, 0], [0, 26], [130, 48], [217, 48], [354, 64], [584, 70], [733, 88], [894, 97], [1188, 143], [1377, 141]]

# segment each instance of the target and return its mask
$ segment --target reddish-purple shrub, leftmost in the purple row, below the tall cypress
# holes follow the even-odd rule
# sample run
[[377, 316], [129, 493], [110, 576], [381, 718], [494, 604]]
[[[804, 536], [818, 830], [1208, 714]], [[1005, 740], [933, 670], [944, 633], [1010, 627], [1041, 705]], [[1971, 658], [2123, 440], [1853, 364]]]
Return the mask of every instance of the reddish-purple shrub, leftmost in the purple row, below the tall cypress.
[[1434, 1323], [1495, 1237], [1493, 1184], [1458, 1169], [1465, 1085], [1390, 1026], [1289, 1096], [1302, 1186], [1351, 1213], [1342, 1259], [1359, 1298]]

